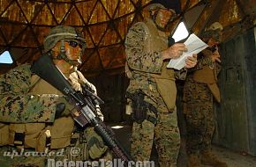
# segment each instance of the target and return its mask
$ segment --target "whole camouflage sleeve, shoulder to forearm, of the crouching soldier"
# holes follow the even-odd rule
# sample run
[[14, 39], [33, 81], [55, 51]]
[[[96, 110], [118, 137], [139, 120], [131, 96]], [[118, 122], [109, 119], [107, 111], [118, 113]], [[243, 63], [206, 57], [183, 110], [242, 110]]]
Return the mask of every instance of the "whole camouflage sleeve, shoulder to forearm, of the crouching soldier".
[[21, 65], [0, 76], [0, 121], [12, 123], [53, 122], [56, 95], [33, 95], [30, 65]]

